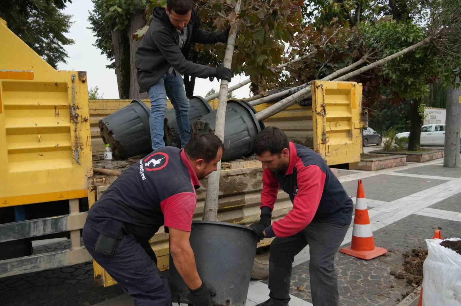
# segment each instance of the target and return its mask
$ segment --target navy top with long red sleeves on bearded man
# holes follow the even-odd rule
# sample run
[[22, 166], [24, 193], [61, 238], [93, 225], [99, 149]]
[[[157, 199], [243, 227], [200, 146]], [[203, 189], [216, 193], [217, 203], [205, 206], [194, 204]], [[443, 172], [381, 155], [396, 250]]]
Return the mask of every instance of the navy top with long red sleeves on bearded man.
[[353, 203], [343, 185], [321, 156], [311, 149], [290, 142], [290, 164], [286, 173], [263, 172], [261, 210], [272, 211], [278, 188], [290, 195], [293, 209], [266, 228], [268, 237], [288, 237], [313, 220], [349, 224]]

